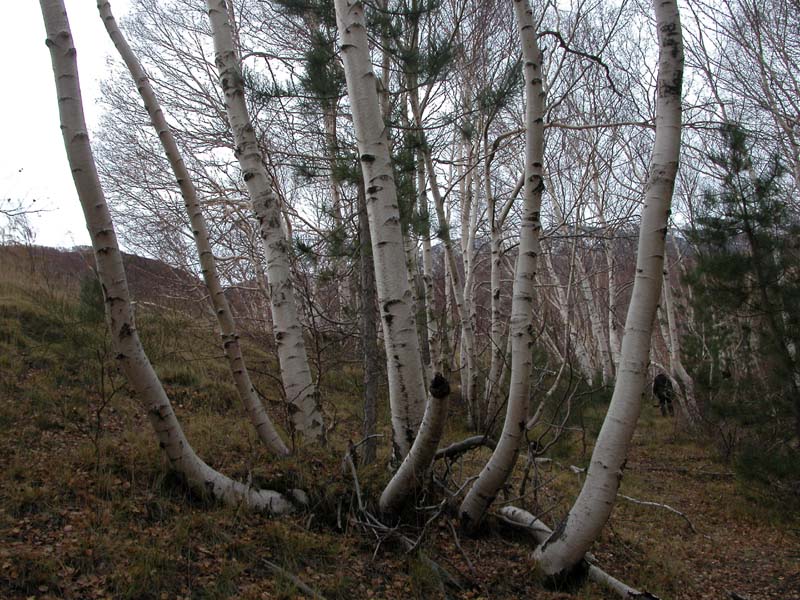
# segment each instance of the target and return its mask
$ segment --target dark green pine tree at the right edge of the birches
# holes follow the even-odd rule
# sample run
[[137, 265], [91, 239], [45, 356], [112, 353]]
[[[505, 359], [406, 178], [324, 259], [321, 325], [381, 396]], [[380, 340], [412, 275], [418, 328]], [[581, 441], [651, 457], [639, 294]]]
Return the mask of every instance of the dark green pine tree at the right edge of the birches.
[[[715, 320], [713, 313], [732, 316], [746, 323], [745, 333], [755, 325], [759, 347], [754, 352], [775, 375], [772, 382], [784, 407], [793, 399], [795, 433], [800, 437], [800, 222], [783, 187], [786, 170], [780, 160], [759, 160], [738, 124], [726, 124], [720, 133], [721, 152], [707, 157], [719, 185], [706, 191], [687, 231], [697, 248], [690, 276], [697, 313], [710, 321]], [[709, 331], [711, 345], [719, 352], [724, 338], [730, 337], [729, 328]], [[727, 371], [731, 366], [719, 367]]]

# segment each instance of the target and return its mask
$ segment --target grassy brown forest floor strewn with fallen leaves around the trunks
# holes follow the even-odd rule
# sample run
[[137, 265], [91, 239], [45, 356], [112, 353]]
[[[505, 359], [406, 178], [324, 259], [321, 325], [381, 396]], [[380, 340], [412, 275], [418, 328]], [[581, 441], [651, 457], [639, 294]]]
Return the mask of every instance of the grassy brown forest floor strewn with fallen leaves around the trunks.
[[[391, 538], [379, 543], [350, 518], [353, 482], [341, 467], [347, 441], [360, 439], [356, 367], [325, 369], [326, 411], [336, 415], [329, 447], [275, 461], [223, 383], [210, 328], [143, 310], [137, 320], [148, 351], [200, 455], [254, 485], [306, 489], [311, 503], [271, 519], [188, 493], [126, 394], [102, 318], [77, 300], [77, 286], [30, 281], [0, 261], [0, 598], [303, 597], [272, 565], [328, 599], [615, 597], [591, 582], [547, 589], [530, 558], [533, 543], [493, 519], [467, 537], [454, 515], [420, 511], [398, 529], [420, 540], [413, 552]], [[267, 374], [274, 358], [256, 342], [248, 341], [248, 356], [257, 386], [275, 397]], [[570, 429], [551, 448], [552, 460], [538, 463], [522, 498], [518, 469], [510, 503], [551, 524], [566, 514], [604, 398], [576, 405], [588, 433]], [[620, 497], [593, 548], [601, 566], [661, 598], [800, 600], [797, 502], [741, 479], [718, 459], [713, 437], [691, 438], [657, 413], [646, 401], [620, 493], [666, 504], [691, 525], [666, 508]], [[461, 421], [455, 403], [448, 440], [466, 435]], [[387, 446], [382, 440], [377, 464], [359, 468], [371, 504], [389, 477]], [[478, 450], [450, 465], [451, 480], [465, 481], [487, 457]], [[441, 572], [457, 585], [444, 583]]]

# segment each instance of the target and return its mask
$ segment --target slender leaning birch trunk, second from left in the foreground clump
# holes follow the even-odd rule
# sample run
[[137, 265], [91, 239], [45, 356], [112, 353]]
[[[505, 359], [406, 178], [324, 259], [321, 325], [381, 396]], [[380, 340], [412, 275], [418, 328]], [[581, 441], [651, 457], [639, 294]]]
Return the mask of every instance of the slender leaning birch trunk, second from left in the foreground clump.
[[150, 115], [150, 122], [158, 133], [158, 138], [161, 140], [161, 145], [164, 148], [167, 159], [169, 159], [170, 166], [175, 174], [175, 179], [180, 187], [181, 195], [183, 196], [186, 206], [186, 214], [189, 216], [195, 244], [197, 245], [203, 280], [208, 288], [211, 304], [214, 307], [214, 314], [217, 316], [217, 323], [219, 324], [222, 337], [222, 349], [225, 352], [225, 357], [228, 359], [228, 366], [230, 367], [234, 382], [236, 383], [239, 398], [241, 398], [242, 404], [250, 417], [253, 427], [255, 427], [256, 432], [258, 432], [261, 441], [276, 454], [287, 455], [289, 454], [289, 449], [286, 447], [286, 444], [283, 443], [275, 426], [272, 424], [250, 380], [250, 373], [247, 371], [247, 366], [242, 356], [242, 349], [239, 345], [239, 334], [236, 331], [233, 313], [231, 312], [227, 298], [225, 298], [225, 290], [220, 283], [219, 274], [217, 273], [217, 261], [211, 250], [208, 227], [206, 227], [206, 220], [203, 217], [200, 201], [197, 198], [197, 190], [183, 162], [178, 144], [175, 142], [175, 137], [172, 135], [172, 130], [167, 124], [164, 113], [161, 111], [158, 98], [156, 98], [155, 92], [150, 85], [150, 79], [128, 45], [125, 36], [122, 35], [122, 32], [117, 26], [117, 21], [114, 19], [114, 15], [111, 12], [111, 4], [106, 0], [98, 0], [97, 10], [100, 12], [100, 17], [103, 20], [108, 35], [117, 47], [122, 60], [125, 61], [131, 73], [131, 77], [133, 77], [136, 83], [139, 94], [141, 94], [142, 100], [144, 101], [144, 106], [147, 109], [147, 113]]

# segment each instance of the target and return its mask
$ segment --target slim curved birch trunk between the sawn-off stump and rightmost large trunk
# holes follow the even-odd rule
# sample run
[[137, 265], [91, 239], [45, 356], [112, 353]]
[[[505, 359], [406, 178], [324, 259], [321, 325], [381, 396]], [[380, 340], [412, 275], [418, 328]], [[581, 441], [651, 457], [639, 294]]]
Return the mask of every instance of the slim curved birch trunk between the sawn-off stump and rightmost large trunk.
[[505, 484], [517, 461], [525, 435], [533, 356], [533, 292], [539, 256], [539, 212], [542, 203], [544, 148], [544, 100], [542, 55], [536, 40], [533, 12], [528, 0], [514, 0], [514, 13], [522, 42], [525, 73], [525, 187], [519, 258], [514, 276], [509, 336], [511, 338], [511, 383], [503, 432], [492, 457], [461, 503], [461, 523], [474, 530]]

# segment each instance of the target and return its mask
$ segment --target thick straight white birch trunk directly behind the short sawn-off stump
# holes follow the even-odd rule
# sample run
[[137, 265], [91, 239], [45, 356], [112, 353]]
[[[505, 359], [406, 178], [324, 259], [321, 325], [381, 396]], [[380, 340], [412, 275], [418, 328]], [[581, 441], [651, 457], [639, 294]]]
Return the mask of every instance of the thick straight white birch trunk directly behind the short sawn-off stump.
[[367, 188], [375, 284], [386, 344], [394, 453], [396, 458], [403, 458], [411, 449], [422, 421], [426, 392], [389, 136], [381, 117], [369, 57], [364, 6], [357, 0], [335, 0], [335, 8], [353, 126]]

